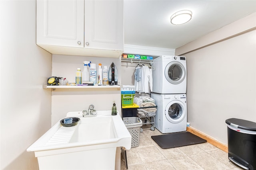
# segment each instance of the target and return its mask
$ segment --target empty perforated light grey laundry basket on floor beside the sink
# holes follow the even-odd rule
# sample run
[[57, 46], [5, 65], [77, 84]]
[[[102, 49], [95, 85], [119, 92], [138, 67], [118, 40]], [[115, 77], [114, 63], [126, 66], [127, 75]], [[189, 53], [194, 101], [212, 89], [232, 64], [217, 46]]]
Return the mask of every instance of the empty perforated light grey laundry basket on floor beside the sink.
[[138, 147], [140, 144], [140, 127], [142, 127], [142, 120], [139, 117], [124, 117], [123, 121], [132, 136], [131, 147]]

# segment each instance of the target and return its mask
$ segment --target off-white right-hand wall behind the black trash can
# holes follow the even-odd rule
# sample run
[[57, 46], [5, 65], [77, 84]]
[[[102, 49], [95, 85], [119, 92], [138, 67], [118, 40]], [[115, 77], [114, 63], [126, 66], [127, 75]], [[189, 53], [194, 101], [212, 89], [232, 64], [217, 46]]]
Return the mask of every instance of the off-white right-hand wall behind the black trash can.
[[[250, 20], [245, 17], [232, 23], [232, 29], [239, 28], [239, 23], [246, 20], [250, 25], [253, 23], [248, 30], [254, 30], [236, 32], [234, 37], [229, 35], [228, 39], [184, 54], [188, 121], [191, 127], [225, 144], [228, 143], [226, 119], [234, 117], [256, 122], [256, 15], [252, 16]], [[230, 25], [216, 32], [202, 39], [217, 41], [216, 36], [222, 39], [225, 32], [230, 33]], [[198, 39], [176, 52], [184, 53], [186, 47], [187, 51], [192, 51], [192, 46], [204, 46], [201, 42]]]

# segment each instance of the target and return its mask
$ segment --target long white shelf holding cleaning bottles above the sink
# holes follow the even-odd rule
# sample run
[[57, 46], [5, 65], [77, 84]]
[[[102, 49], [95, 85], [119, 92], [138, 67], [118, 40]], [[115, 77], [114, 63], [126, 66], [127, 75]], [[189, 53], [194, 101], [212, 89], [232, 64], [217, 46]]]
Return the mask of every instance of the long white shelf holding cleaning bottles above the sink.
[[120, 86], [119, 85], [113, 85], [113, 86], [109, 86], [109, 85], [106, 85], [106, 86], [47, 86], [47, 85], [43, 85], [43, 88], [51, 88], [51, 89], [56, 89], [56, 88], [85, 88], [85, 89], [88, 89], [88, 88], [103, 88], [103, 89], [115, 89], [116, 90], [120, 90]]

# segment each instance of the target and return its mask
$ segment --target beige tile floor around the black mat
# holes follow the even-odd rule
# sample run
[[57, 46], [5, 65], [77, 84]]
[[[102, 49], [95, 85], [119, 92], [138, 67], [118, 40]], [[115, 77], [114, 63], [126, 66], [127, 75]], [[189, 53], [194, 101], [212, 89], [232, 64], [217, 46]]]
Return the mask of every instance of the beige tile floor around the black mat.
[[[128, 170], [243, 170], [228, 160], [228, 153], [210, 143], [162, 149], [151, 138], [162, 135], [143, 125], [138, 147], [126, 151]], [[126, 165], [121, 160], [121, 170]]]

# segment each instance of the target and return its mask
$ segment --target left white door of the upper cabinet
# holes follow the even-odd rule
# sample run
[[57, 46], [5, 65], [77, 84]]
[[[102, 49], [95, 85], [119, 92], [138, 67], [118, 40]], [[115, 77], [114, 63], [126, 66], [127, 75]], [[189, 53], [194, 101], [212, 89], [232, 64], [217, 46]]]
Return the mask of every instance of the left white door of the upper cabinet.
[[83, 0], [37, 0], [36, 43], [84, 47]]

